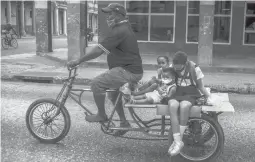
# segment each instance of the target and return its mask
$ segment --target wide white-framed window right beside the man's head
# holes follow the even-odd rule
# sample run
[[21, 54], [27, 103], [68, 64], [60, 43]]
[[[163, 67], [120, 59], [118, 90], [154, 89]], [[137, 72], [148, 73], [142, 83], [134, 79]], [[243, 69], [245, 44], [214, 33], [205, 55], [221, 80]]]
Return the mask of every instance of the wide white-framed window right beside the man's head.
[[139, 41], [174, 42], [174, 1], [126, 1], [127, 17]]

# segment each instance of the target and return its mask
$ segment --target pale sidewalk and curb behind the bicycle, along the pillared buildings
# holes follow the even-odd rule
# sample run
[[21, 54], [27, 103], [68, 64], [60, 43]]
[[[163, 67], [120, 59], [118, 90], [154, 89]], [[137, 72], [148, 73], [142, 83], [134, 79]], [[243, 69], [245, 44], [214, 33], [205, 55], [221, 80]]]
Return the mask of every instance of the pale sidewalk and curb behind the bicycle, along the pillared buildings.
[[[96, 41], [97, 37], [90, 44]], [[35, 39], [21, 39], [20, 43], [23, 43], [22, 46], [16, 50], [1, 50], [1, 80], [24, 81], [25, 79], [33, 82], [63, 83], [68, 75], [65, 67], [67, 60], [66, 38], [54, 38], [54, 52], [44, 56], [35, 54]], [[143, 81], [156, 75], [157, 57], [158, 55], [155, 54], [142, 54], [145, 69]], [[196, 60], [195, 57], [190, 58], [193, 61]], [[78, 69], [76, 84], [88, 85], [95, 76], [104, 72], [108, 68], [105, 60], [106, 56], [102, 55], [82, 64]], [[254, 58], [217, 58], [214, 61], [215, 66], [207, 67], [207, 70], [202, 67], [206, 86], [221, 92], [255, 93]], [[150, 66], [149, 69], [148, 66]]]

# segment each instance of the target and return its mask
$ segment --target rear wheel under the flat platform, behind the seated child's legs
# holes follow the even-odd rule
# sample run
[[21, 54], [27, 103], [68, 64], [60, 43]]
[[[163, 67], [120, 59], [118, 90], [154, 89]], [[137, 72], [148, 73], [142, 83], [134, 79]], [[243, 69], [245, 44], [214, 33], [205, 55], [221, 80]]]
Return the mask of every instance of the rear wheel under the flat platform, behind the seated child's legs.
[[[208, 162], [215, 161], [223, 152], [224, 148], [224, 132], [222, 127], [213, 117], [202, 114], [201, 118], [190, 118], [188, 125], [194, 122], [202, 124], [201, 127], [186, 129], [183, 135], [184, 147], [178, 158], [185, 159], [190, 162]], [[212, 136], [205, 141], [203, 138], [203, 129], [211, 128]], [[202, 130], [200, 129], [202, 128]], [[173, 142], [172, 131], [169, 132], [169, 144]]]

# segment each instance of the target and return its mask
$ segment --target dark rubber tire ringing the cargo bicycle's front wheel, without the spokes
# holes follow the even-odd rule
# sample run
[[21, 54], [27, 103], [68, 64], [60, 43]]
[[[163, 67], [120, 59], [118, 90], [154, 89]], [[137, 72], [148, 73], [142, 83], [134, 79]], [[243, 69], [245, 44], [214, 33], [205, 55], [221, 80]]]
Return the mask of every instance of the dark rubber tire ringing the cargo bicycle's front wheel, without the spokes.
[[70, 115], [69, 112], [67, 111], [66, 107], [62, 107], [60, 109], [60, 113], [63, 114], [63, 118], [64, 118], [64, 129], [62, 130], [62, 132], [55, 138], [51, 138], [51, 139], [45, 139], [40, 137], [39, 135], [37, 135], [34, 132], [33, 129], [33, 125], [31, 125], [31, 115], [33, 115], [32, 113], [34, 112], [34, 110], [43, 103], [48, 103], [48, 104], [52, 104], [56, 107], [58, 107], [60, 105], [60, 102], [56, 101], [55, 99], [51, 99], [51, 98], [42, 98], [42, 99], [38, 99], [36, 101], [34, 101], [28, 108], [27, 112], [26, 112], [26, 126], [29, 130], [29, 132], [31, 133], [31, 135], [36, 138], [37, 140], [39, 140], [42, 143], [50, 143], [50, 144], [54, 144], [59, 142], [60, 140], [62, 140], [67, 133], [70, 130], [70, 126], [71, 126], [71, 119], [70, 119]]

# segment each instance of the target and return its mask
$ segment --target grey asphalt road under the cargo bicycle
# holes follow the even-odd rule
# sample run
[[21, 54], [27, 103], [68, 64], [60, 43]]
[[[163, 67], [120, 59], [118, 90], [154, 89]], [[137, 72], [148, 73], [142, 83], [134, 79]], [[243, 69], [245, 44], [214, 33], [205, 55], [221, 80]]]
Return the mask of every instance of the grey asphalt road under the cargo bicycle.
[[[42, 97], [55, 98], [60, 85], [2, 82], [1, 85], [1, 161], [3, 162], [166, 162], [166, 141], [137, 141], [115, 138], [101, 132], [98, 124], [89, 124], [81, 108], [71, 100], [66, 106], [71, 129], [58, 144], [41, 144], [28, 132], [25, 113]], [[224, 153], [217, 162], [254, 162], [255, 96], [231, 94], [236, 112], [220, 116], [225, 133]], [[85, 105], [93, 109], [91, 94], [84, 94]], [[173, 160], [172, 160], [173, 161]]]

